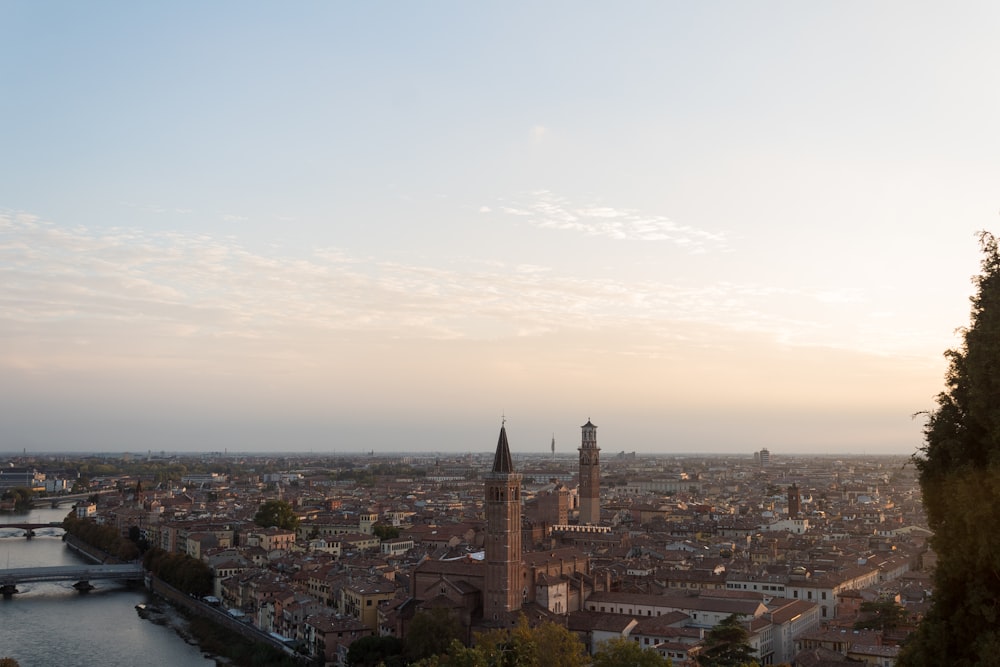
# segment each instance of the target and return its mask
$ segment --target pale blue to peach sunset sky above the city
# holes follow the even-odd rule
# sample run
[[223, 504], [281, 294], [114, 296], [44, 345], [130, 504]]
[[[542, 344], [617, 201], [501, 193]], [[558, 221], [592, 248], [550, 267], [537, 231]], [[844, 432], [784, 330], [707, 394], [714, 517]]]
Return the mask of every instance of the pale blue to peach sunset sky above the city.
[[0, 0], [0, 451], [910, 455], [995, 2]]

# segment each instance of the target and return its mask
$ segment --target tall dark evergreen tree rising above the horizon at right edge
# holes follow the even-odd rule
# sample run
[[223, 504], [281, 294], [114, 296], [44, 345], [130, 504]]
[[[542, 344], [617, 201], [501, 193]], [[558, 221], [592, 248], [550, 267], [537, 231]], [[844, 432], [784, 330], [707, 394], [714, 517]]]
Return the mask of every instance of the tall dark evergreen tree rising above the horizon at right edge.
[[948, 350], [916, 464], [938, 556], [931, 607], [902, 667], [985, 665], [1000, 655], [1000, 250], [981, 232], [970, 325]]

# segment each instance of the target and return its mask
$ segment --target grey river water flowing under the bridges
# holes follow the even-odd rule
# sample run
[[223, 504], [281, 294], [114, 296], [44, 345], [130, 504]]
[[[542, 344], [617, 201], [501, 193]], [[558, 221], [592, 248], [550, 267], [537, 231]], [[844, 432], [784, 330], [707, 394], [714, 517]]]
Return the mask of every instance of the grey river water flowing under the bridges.
[[[0, 513], [0, 523], [62, 521], [69, 511]], [[21, 531], [0, 528], [0, 568], [84, 562], [63, 543], [62, 529], [26, 540]], [[21, 667], [214, 667], [169, 627], [139, 616], [135, 605], [150, 601], [141, 587], [97, 581], [96, 590], [81, 595], [73, 583], [21, 584], [12, 599], [0, 598], [0, 658]]]

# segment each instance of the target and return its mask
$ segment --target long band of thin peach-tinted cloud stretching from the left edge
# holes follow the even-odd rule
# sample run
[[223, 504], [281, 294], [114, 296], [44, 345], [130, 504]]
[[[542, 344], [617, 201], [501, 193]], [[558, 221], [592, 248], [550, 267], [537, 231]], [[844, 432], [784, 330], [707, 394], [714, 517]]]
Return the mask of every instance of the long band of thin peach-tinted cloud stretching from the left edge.
[[[618, 215], [586, 210], [592, 219]], [[552, 217], [580, 215], [559, 208]], [[851, 292], [623, 282], [488, 258], [426, 266], [340, 248], [261, 254], [229, 237], [70, 229], [11, 213], [0, 213], [0, 280], [0, 364], [29, 366], [55, 363], [79, 345], [109, 355], [204, 361], [236, 354], [236, 345], [218, 347], [224, 341], [267, 343], [256, 353], [280, 356], [304, 341], [330, 345], [356, 336], [482, 341], [627, 330], [642, 334], [644, 346], [670, 346], [678, 331], [687, 332], [688, 344], [710, 345], [706, 332], [724, 330], [732, 340], [752, 332], [790, 344], [859, 347], [886, 338], [873, 335], [885, 318], [845, 332], [834, 331], [833, 317], [785, 314], [862, 298]], [[691, 334], [699, 329], [701, 340]]]

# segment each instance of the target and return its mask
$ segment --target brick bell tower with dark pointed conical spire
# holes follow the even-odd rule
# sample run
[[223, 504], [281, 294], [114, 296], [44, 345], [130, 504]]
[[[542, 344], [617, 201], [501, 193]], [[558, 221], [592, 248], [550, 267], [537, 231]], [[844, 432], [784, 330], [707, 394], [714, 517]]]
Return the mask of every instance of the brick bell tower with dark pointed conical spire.
[[521, 608], [521, 475], [514, 472], [501, 424], [493, 469], [486, 474], [486, 591], [483, 619]]

